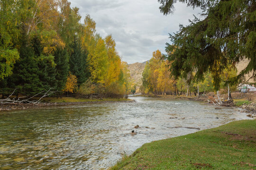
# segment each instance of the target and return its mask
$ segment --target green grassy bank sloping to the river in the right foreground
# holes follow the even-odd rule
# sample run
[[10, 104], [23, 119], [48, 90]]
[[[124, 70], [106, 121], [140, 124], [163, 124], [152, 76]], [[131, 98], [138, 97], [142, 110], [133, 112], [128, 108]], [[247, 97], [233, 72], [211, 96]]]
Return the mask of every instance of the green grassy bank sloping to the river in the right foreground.
[[144, 144], [110, 170], [255, 170], [256, 120]]

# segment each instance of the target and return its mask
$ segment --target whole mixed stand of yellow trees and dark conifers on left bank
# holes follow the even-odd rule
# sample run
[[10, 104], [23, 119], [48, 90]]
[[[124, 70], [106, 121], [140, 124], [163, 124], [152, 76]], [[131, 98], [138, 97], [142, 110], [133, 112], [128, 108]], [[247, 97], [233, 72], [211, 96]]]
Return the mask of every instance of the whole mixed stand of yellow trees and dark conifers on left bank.
[[[67, 0], [1, 0], [0, 94], [118, 97], [130, 92], [127, 63]], [[40, 94], [39, 94], [40, 95]]]

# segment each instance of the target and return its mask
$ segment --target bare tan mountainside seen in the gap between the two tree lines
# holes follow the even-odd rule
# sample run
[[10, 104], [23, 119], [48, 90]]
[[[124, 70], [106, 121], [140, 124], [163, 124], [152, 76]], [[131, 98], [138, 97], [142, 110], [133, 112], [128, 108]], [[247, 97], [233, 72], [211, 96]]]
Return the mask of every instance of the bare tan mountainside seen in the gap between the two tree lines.
[[146, 66], [146, 61], [143, 63], [133, 63], [128, 64], [128, 69], [130, 70], [130, 75], [132, 80], [134, 81], [136, 85], [136, 89], [138, 90], [140, 85], [142, 85], [142, 73]]

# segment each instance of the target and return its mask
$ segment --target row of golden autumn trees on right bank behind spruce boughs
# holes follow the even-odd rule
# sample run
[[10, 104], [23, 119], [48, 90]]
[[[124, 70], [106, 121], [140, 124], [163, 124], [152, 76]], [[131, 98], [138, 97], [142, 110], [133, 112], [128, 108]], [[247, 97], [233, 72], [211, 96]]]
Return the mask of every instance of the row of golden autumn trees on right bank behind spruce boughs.
[[[165, 58], [165, 55], [161, 51], [157, 50], [153, 52], [153, 57], [146, 62], [146, 66], [142, 73], [142, 85], [140, 86], [140, 92], [149, 95], [198, 95], [202, 93], [214, 92], [213, 75], [210, 72], [204, 73], [204, 78], [201, 81], [196, 81], [193, 78], [191, 83], [187, 82], [187, 79], [170, 75], [169, 69], [172, 67], [172, 61]], [[191, 76], [195, 76], [195, 72], [192, 72]], [[237, 70], [233, 67], [224, 69], [220, 75], [220, 88], [222, 93], [228, 93], [230, 96], [231, 91], [235, 91], [237, 84], [229, 85], [226, 82], [237, 76]]]

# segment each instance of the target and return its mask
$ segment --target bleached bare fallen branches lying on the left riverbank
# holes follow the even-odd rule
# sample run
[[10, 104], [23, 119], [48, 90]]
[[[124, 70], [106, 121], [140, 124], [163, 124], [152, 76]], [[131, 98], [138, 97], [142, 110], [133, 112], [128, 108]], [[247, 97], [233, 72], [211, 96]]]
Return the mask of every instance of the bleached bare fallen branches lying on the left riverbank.
[[[22, 97], [18, 97], [18, 99], [16, 99], [16, 97], [11, 99], [10, 97], [12, 96], [12, 94], [15, 91], [16, 91], [16, 89], [14, 89], [14, 91], [6, 99], [1, 99], [0, 103], [1, 104], [36, 104], [36, 105], [46, 104], [46, 103], [42, 103], [42, 99], [46, 96], [51, 95], [52, 93], [57, 92], [57, 91], [51, 91], [51, 88], [50, 88], [45, 93], [44, 93], [44, 91], [42, 91], [42, 92], [37, 93], [36, 95], [34, 95], [32, 97], [29, 97], [29, 98], [27, 98], [27, 96], [22, 96]], [[44, 94], [38, 100], [32, 100], [34, 97], [36, 97], [36, 96], [38, 96], [39, 94], [42, 94], [42, 93], [44, 93]], [[24, 99], [24, 98], [27, 98], [27, 99]]]

